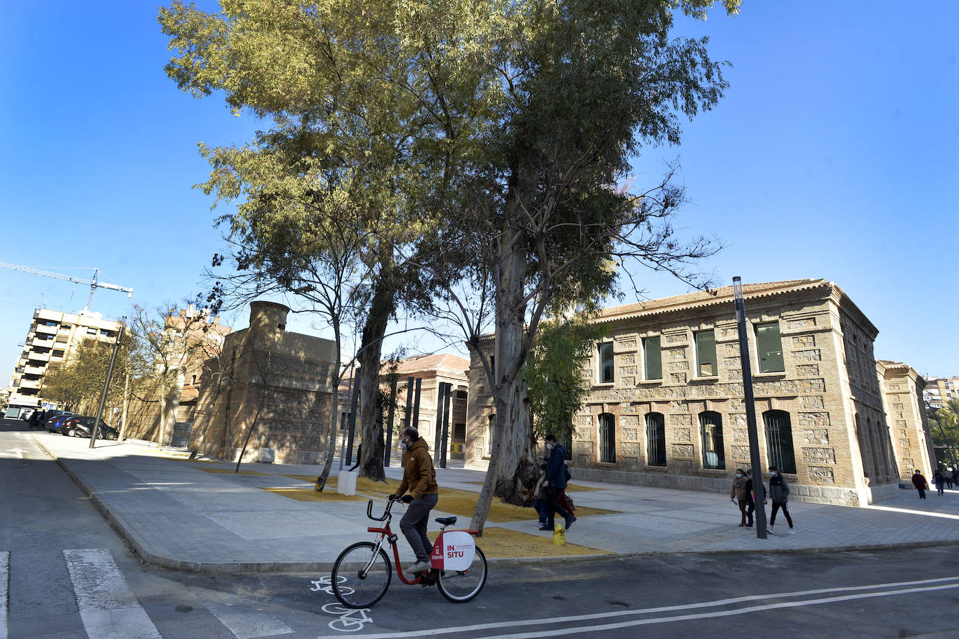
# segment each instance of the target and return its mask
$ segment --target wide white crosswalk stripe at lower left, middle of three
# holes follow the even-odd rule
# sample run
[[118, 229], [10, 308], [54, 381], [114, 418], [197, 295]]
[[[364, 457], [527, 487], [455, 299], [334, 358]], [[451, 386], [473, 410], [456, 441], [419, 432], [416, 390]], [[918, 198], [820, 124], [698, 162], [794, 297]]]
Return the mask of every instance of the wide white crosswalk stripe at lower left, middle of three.
[[90, 639], [162, 639], [108, 550], [64, 550], [63, 559]]

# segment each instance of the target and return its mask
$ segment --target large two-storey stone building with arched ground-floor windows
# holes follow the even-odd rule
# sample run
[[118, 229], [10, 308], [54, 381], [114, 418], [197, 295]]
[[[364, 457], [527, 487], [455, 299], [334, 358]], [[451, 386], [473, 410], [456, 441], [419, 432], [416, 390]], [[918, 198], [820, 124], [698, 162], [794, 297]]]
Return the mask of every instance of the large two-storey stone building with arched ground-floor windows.
[[[897, 495], [911, 468], [929, 469], [922, 420], [907, 423], [906, 438], [891, 437], [887, 420], [887, 402], [904, 416], [918, 411], [919, 396], [895, 367], [880, 387], [878, 331], [839, 286], [792, 280], [743, 290], [760, 455], [784, 472], [792, 498], [865, 505]], [[592, 393], [573, 423], [576, 476], [729, 491], [736, 468], [749, 466], [732, 286], [606, 308], [595, 321], [607, 337], [584, 362]], [[474, 356], [471, 382], [480, 368]], [[483, 386], [471, 385], [467, 417], [473, 468], [484, 466], [493, 416]]]

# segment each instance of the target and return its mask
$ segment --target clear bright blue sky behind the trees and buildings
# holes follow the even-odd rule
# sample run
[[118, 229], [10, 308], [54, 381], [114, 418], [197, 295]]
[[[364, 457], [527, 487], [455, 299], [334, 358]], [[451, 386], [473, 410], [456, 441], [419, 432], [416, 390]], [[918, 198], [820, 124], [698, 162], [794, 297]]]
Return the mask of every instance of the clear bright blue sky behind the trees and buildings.
[[[201, 7], [214, 7], [208, 1]], [[0, 22], [0, 261], [134, 289], [101, 289], [108, 317], [201, 287], [219, 248], [197, 143], [243, 143], [256, 123], [180, 92], [151, 3], [8, 3]], [[812, 277], [840, 285], [879, 329], [877, 357], [959, 375], [959, 3], [745, 0], [681, 19], [732, 62], [726, 97], [644, 149], [638, 185], [678, 159], [689, 235], [726, 248], [720, 284]], [[646, 276], [648, 297], [686, 292]], [[75, 311], [88, 287], [0, 269], [0, 384], [37, 306]], [[244, 326], [246, 318], [231, 318]], [[322, 331], [309, 318], [294, 331]]]

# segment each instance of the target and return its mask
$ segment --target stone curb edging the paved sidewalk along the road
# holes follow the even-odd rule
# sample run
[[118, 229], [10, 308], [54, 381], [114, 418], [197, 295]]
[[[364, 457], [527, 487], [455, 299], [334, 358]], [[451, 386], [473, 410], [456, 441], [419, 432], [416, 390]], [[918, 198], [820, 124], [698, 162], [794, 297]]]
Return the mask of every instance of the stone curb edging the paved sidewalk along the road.
[[[153, 552], [149, 544], [143, 542], [129, 532], [124, 526], [122, 517], [112, 513], [108, 506], [100, 499], [96, 491], [90, 489], [83, 480], [69, 468], [60, 458], [45, 445], [37, 441], [33, 435], [31, 438], [47, 455], [49, 455], [57, 465], [74, 481], [78, 488], [93, 502], [94, 506], [104, 515], [110, 526], [129, 543], [133, 552], [144, 561], [152, 564], [171, 568], [174, 570], [183, 570], [198, 573], [229, 574], [229, 573], [307, 573], [321, 572], [328, 573], [333, 569], [333, 562], [296, 562], [296, 561], [268, 561], [268, 562], [203, 562], [175, 559]], [[480, 537], [481, 538], [481, 537]], [[849, 546], [824, 546], [819, 548], [740, 548], [740, 549], [709, 549], [709, 550], [655, 550], [640, 553], [597, 553], [593, 555], [570, 555], [563, 557], [499, 557], [486, 558], [487, 563], [496, 564], [514, 564], [514, 563], [558, 563], [569, 561], [593, 562], [603, 559], [638, 559], [643, 557], [663, 557], [672, 555], [737, 555], [745, 553], [764, 553], [777, 555], [814, 555], [819, 553], [844, 553], [844, 552], [862, 552], [870, 550], [896, 550], [901, 548], [929, 548], [936, 546], [956, 546], [959, 540], [942, 541], [909, 541], [909, 542], [889, 542], [880, 544], [853, 544]]]

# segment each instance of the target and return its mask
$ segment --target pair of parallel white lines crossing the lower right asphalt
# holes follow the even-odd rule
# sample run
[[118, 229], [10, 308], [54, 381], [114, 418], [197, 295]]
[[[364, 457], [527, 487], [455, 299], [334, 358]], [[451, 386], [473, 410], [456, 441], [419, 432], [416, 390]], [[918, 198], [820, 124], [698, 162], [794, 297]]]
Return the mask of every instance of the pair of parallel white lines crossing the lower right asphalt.
[[[950, 583], [946, 583], [950, 582]], [[901, 586], [922, 586], [924, 584], [935, 584], [928, 585], [925, 587], [918, 588], [901, 588]], [[728, 616], [732, 614], [740, 614], [742, 612], [748, 612], [751, 610], [764, 610], [764, 609], [774, 609], [778, 607], [788, 607], [791, 605], [815, 605], [815, 604], [827, 604], [830, 602], [842, 602], [849, 601], [853, 599], [865, 599], [869, 597], [883, 597], [886, 595], [895, 595], [895, 594], [904, 594], [911, 592], [924, 592], [926, 590], [945, 590], [947, 588], [959, 588], [959, 577], [942, 577], [937, 579], [926, 579], [926, 580], [917, 580], [915, 582], [890, 582], [890, 583], [871, 583], [867, 585], [857, 585], [857, 586], [840, 586], [835, 588], [817, 588], [815, 590], [798, 590], [795, 592], [779, 592], [779, 593], [769, 593], [765, 595], [749, 595], [745, 597], [734, 597], [730, 599], [718, 599], [712, 602], [699, 602], [695, 604], [682, 604], [682, 605], [662, 605], [652, 608], [640, 608], [637, 610], [613, 610], [610, 612], [597, 612], [595, 614], [588, 615], [573, 615], [569, 617], [550, 617], [547, 619], [521, 619], [513, 621], [503, 621], [495, 622], [490, 624], [475, 624], [473, 626], [457, 626], [451, 628], [428, 628], [423, 630], [412, 630], [409, 632], [381, 632], [376, 634], [362, 634], [362, 635], [353, 635], [358, 637], [363, 637], [364, 639], [393, 639], [397, 637], [419, 637], [424, 634], [452, 634], [456, 632], [476, 632], [478, 630], [495, 630], [498, 628], [517, 628], [521, 626], [550, 626], [553, 624], [570, 624], [572, 622], [582, 622], [582, 621], [593, 621], [596, 619], [608, 620], [615, 617], [627, 617], [627, 616], [638, 616], [651, 613], [662, 613], [662, 612], [671, 612], [676, 610], [690, 610], [695, 608], [705, 608], [705, 607], [717, 607], [717, 606], [727, 606], [727, 605], [737, 605], [744, 604], [748, 602], [757, 602], [769, 599], [782, 599], [785, 597], [807, 597], [809, 595], [821, 595], [830, 592], [855, 592], [860, 590], [877, 590], [879, 588], [900, 588], [897, 590], [884, 590], [882, 592], [875, 593], [861, 593], [857, 595], [843, 595], [841, 597], [827, 597], [823, 599], [815, 600], [805, 600], [801, 602], [783, 602], [779, 604], [770, 604], [770, 605], [758, 605], [747, 608], [734, 608], [732, 610], [719, 610], [701, 613], [699, 615], [684, 615], [682, 617], [658, 617], [654, 619], [642, 619], [635, 621], [626, 621], [622, 622], [621, 626], [611, 625], [606, 626], [590, 626], [590, 630], [601, 629], [601, 628], [626, 628], [628, 626], [640, 626], [643, 624], [649, 623], [665, 623], [667, 621], [680, 621], [682, 619], [699, 619], [702, 617], [713, 617], [713, 616]], [[510, 634], [503, 635], [503, 637], [550, 637], [555, 636], [556, 630], [549, 630], [542, 633], [534, 632], [527, 634]], [[326, 635], [327, 637], [336, 637], [340, 635]], [[319, 639], [325, 639], [320, 637]]]

